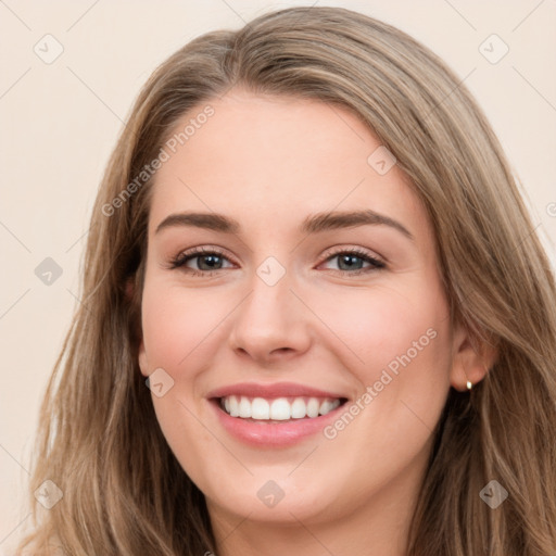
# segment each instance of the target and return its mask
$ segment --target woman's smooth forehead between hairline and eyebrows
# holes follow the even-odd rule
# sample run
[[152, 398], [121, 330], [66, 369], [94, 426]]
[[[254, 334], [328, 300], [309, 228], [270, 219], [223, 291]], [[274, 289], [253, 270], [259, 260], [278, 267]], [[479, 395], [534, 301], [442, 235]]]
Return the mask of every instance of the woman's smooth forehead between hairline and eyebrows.
[[151, 232], [180, 210], [298, 226], [308, 213], [372, 208], [424, 225], [405, 174], [395, 164], [377, 170], [384, 147], [343, 106], [232, 90], [190, 110], [170, 136], [154, 180]]

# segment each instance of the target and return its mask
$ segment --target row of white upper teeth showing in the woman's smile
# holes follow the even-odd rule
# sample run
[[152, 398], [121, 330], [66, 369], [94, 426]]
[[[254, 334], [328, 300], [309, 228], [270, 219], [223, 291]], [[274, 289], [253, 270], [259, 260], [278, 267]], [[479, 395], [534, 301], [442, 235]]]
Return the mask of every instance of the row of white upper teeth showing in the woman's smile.
[[228, 395], [220, 400], [220, 407], [231, 417], [256, 420], [287, 421], [289, 419], [315, 418], [326, 415], [340, 405], [340, 400], [330, 397], [248, 397]]

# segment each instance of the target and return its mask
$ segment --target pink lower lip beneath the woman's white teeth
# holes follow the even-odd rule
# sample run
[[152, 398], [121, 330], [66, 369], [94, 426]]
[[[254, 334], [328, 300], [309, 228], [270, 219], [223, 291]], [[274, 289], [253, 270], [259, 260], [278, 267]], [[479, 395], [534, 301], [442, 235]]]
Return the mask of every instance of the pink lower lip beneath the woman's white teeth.
[[222, 426], [229, 434], [248, 444], [257, 446], [291, 446], [309, 438], [333, 421], [345, 403], [339, 405], [326, 415], [315, 418], [303, 418], [289, 421], [251, 421], [240, 417], [231, 417], [222, 407], [217, 400], [210, 400]]

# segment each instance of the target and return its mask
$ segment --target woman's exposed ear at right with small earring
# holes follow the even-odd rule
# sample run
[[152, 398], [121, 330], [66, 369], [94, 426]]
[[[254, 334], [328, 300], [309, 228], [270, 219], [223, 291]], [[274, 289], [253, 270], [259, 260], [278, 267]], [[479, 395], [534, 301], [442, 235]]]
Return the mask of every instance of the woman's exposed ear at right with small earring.
[[497, 349], [488, 341], [473, 341], [469, 332], [457, 326], [452, 344], [450, 383], [456, 390], [467, 390], [467, 381], [478, 384], [494, 365]]

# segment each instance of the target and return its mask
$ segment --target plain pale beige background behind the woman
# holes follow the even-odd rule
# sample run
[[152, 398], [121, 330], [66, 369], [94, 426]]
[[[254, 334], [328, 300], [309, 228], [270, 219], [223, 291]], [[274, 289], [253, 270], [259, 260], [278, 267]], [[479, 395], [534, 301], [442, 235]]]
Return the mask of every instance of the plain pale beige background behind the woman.
[[[154, 67], [193, 37], [289, 5], [308, 2], [0, 1], [1, 554], [10, 554], [29, 522], [22, 502], [37, 409], [78, 303], [78, 265], [101, 173], [132, 100]], [[554, 262], [556, 2], [318, 5], [392, 23], [465, 78], [525, 185]], [[54, 39], [43, 39], [47, 34]], [[492, 34], [509, 48], [495, 64], [479, 50]], [[491, 56], [503, 48], [492, 40], [483, 47]], [[47, 64], [34, 48], [53, 55], [56, 41], [63, 52]], [[50, 286], [35, 275], [46, 257], [63, 269]]]

